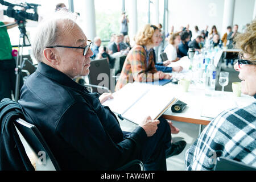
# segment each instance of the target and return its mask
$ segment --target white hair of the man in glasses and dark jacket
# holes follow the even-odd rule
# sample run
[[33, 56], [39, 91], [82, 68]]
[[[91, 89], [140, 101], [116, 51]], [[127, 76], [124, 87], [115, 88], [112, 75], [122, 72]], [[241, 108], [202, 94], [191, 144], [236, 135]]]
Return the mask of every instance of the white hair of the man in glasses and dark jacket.
[[32, 41], [32, 51], [38, 62], [43, 60], [46, 47], [59, 44], [58, 37], [70, 31], [75, 25], [76, 14], [67, 11], [57, 11], [39, 23], [38, 30]]

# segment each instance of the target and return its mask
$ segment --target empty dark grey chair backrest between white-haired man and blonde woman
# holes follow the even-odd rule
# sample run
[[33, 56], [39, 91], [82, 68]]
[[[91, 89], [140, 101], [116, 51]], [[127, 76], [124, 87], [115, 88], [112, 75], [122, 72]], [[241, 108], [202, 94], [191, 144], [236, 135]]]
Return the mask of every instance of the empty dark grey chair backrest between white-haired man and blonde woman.
[[[106, 58], [90, 61], [89, 69], [89, 84], [105, 86], [112, 92], [114, 91], [114, 79], [110, 73], [109, 63]], [[101, 88], [93, 88], [93, 92], [102, 94], [106, 92], [106, 90]]]

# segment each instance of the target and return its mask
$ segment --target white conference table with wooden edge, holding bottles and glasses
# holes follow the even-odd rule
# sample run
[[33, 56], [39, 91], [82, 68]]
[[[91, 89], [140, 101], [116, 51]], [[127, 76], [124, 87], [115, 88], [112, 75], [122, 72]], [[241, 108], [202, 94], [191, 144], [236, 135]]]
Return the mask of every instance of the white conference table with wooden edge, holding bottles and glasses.
[[[218, 76], [221, 71], [221, 63], [224, 60], [226, 52], [240, 52], [239, 49], [221, 49], [216, 51], [213, 64], [216, 67], [216, 85], [218, 85]], [[181, 65], [184, 70], [181, 73], [172, 73], [172, 77], [180, 80], [181, 78], [195, 78], [195, 72], [189, 71], [190, 60], [183, 57], [180, 61], [172, 63], [174, 67]], [[187, 104], [182, 113], [173, 113], [171, 107], [162, 115], [163, 118], [199, 124], [199, 134], [203, 125], [208, 125], [213, 118], [217, 117], [222, 111], [237, 106], [246, 106], [255, 101], [253, 97], [241, 94], [241, 97], [234, 96], [233, 92], [224, 92], [214, 90], [213, 96], [205, 96], [204, 84], [194, 82], [189, 85], [188, 92], [182, 92], [180, 85], [169, 83], [167, 85], [176, 98]]]

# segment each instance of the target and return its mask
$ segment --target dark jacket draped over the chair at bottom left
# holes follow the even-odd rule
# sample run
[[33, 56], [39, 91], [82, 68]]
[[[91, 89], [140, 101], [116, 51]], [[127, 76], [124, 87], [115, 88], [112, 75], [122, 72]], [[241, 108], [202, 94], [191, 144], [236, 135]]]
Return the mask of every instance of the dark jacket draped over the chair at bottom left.
[[5, 98], [0, 102], [0, 171], [34, 170], [14, 127], [23, 118], [19, 104]]

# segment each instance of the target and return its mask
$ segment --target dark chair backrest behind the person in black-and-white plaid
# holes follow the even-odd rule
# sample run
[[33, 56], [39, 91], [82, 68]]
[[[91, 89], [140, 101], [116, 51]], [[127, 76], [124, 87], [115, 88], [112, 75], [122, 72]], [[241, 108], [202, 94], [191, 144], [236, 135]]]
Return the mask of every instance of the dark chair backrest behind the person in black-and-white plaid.
[[256, 168], [228, 158], [217, 158], [215, 171], [255, 171]]

